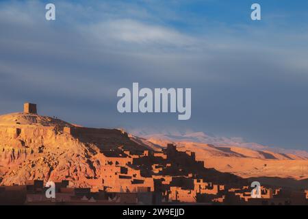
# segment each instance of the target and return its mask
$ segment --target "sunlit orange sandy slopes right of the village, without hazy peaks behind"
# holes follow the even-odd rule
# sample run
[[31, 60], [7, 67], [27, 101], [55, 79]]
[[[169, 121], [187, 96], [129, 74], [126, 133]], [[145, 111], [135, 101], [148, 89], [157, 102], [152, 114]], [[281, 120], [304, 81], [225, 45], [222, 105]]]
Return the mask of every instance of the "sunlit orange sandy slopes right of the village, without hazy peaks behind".
[[[149, 138], [149, 142], [166, 146], [168, 140]], [[218, 147], [196, 142], [175, 142], [181, 151], [194, 151], [205, 167], [231, 172], [240, 177], [308, 178], [308, 159], [292, 154], [255, 151], [240, 147]]]

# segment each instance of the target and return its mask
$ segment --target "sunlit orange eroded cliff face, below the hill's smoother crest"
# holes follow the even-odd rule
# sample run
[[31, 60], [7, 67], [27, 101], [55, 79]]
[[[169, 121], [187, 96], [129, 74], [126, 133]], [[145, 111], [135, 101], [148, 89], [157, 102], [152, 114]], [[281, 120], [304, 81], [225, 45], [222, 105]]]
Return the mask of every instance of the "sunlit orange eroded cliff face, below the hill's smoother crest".
[[[16, 129], [21, 132], [16, 136]], [[54, 127], [0, 127], [1, 184], [24, 184], [31, 179], [77, 184], [96, 177], [98, 149]]]

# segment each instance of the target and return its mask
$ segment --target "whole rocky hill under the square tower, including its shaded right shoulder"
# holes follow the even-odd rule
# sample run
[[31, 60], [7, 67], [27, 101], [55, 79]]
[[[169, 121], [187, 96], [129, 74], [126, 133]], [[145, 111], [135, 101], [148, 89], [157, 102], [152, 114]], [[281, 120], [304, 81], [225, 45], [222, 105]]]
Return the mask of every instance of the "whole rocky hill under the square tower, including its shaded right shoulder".
[[[91, 136], [74, 136], [64, 127], [74, 126], [35, 114], [0, 116], [0, 185], [23, 185], [40, 179], [68, 180], [71, 186], [87, 187], [88, 179], [101, 179], [104, 145], [110, 150], [112, 146], [136, 144], [127, 133], [116, 129], [112, 139], [99, 138], [96, 133], [96, 141], [91, 142]], [[144, 150], [144, 146], [138, 147]]]

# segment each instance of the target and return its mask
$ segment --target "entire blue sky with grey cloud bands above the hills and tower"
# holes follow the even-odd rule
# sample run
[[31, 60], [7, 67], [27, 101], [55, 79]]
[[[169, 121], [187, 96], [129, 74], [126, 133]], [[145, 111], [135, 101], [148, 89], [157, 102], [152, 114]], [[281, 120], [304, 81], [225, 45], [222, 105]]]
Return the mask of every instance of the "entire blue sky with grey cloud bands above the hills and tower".
[[[44, 20], [55, 3], [56, 21]], [[251, 21], [260, 3], [262, 21]], [[0, 114], [204, 131], [308, 150], [307, 1], [0, 1]], [[192, 118], [119, 114], [116, 91], [192, 88]]]

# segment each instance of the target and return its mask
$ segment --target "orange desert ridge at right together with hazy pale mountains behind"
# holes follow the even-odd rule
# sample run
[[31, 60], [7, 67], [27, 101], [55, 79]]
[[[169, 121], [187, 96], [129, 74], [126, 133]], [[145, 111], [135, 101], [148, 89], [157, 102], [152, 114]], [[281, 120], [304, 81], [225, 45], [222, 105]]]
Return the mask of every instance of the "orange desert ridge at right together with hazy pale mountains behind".
[[207, 140], [208, 137], [204, 133], [192, 133], [187, 136], [156, 134], [143, 138], [158, 145], [173, 142], [178, 145], [179, 150], [194, 151], [196, 159], [203, 160], [206, 168], [230, 172], [243, 178], [279, 177], [297, 180], [308, 178], [308, 158], [305, 151], [291, 153], [292, 151], [282, 149], [281, 151], [285, 153], [279, 153], [274, 152], [277, 149], [270, 150], [267, 146], [253, 143], [236, 144], [227, 138], [209, 137]]

